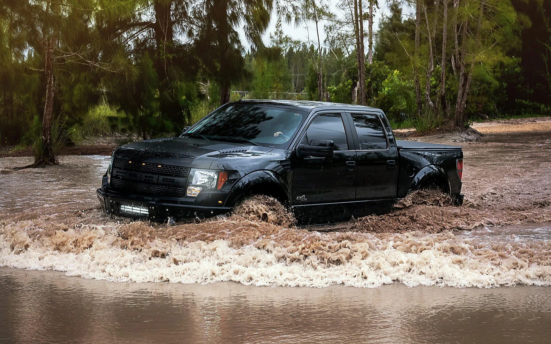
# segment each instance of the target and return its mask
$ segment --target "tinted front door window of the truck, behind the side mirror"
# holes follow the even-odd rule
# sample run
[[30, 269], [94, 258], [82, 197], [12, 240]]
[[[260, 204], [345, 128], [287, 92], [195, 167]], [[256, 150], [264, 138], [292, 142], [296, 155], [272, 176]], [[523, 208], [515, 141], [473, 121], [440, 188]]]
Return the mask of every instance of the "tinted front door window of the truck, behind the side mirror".
[[308, 143], [312, 140], [331, 140], [335, 150], [348, 150], [343, 121], [338, 113], [320, 114], [314, 118], [306, 130], [306, 139]]

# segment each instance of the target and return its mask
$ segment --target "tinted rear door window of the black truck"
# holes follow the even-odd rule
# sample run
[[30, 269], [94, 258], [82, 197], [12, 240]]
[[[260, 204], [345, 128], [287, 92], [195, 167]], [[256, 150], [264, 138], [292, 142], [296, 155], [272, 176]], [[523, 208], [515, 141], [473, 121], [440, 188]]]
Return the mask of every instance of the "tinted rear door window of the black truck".
[[373, 114], [353, 113], [352, 119], [356, 133], [358, 133], [361, 150], [387, 148], [386, 134], [379, 117]]

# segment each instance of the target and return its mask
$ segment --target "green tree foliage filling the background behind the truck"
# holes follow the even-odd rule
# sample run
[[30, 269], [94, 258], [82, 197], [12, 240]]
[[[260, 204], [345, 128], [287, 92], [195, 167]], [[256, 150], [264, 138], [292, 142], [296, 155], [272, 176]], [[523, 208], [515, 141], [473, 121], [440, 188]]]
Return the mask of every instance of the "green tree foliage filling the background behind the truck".
[[[410, 11], [403, 11], [403, 2], [388, 2], [388, 15], [383, 15], [376, 32], [375, 61], [365, 66], [370, 106], [382, 108], [396, 127], [432, 130], [450, 121], [460, 89], [454, 30], [461, 47], [462, 23], [466, 23], [467, 72], [472, 66], [467, 118], [550, 114], [551, 1], [485, 0], [478, 41], [481, 2], [462, 0], [457, 10], [448, 2], [446, 112], [438, 107], [444, 65], [442, 2], [439, 9], [432, 0], [418, 3], [427, 6], [435, 32], [432, 45], [422, 13], [419, 55], [414, 56], [414, 12], [405, 16]], [[230, 101], [244, 97], [236, 91], [247, 91], [248, 99], [317, 100], [319, 67], [329, 99], [352, 102], [358, 75], [351, 14], [344, 9], [349, 3], [339, 4], [337, 13], [329, 13], [323, 1], [280, 5], [280, 18], [317, 23], [317, 29], [326, 31], [325, 42], [294, 41], [278, 19], [264, 46], [262, 37], [274, 4], [272, 0], [0, 2], [0, 144], [30, 145], [40, 136], [44, 41], [51, 36], [57, 37], [53, 118], [63, 119], [62, 125], [56, 124], [62, 129], [56, 130], [73, 142], [113, 133], [139, 133], [143, 138], [177, 134], [218, 107], [226, 91]], [[331, 20], [324, 27], [320, 18]], [[424, 94], [431, 46], [435, 68], [428, 96], [436, 110], [426, 105]], [[422, 89], [419, 116], [415, 70]]]

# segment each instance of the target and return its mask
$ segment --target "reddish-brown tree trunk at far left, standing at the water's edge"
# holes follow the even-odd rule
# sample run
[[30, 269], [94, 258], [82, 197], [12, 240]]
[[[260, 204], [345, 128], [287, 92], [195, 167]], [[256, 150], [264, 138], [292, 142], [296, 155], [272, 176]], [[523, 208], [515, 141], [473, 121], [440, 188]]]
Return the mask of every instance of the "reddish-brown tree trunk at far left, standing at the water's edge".
[[52, 123], [53, 123], [53, 95], [55, 93], [53, 79], [53, 50], [56, 47], [55, 37], [44, 42], [44, 76], [46, 79], [46, 102], [44, 116], [42, 117], [42, 156], [35, 165], [42, 163], [56, 163], [56, 156], [52, 149]]

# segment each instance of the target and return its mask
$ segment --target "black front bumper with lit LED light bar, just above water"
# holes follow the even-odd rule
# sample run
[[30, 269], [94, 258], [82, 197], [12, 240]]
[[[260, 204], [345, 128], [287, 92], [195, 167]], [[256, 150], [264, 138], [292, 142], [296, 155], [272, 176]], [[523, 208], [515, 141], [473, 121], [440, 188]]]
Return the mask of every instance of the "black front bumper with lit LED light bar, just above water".
[[[176, 220], [196, 217], [210, 217], [225, 214], [231, 207], [179, 204], [174, 201], [140, 195], [112, 194], [104, 188], [96, 190], [101, 207], [108, 214], [120, 214], [137, 219], [165, 221], [168, 217]], [[122, 209], [121, 209], [122, 205]], [[129, 211], [134, 209], [135, 211]]]

